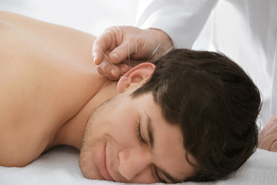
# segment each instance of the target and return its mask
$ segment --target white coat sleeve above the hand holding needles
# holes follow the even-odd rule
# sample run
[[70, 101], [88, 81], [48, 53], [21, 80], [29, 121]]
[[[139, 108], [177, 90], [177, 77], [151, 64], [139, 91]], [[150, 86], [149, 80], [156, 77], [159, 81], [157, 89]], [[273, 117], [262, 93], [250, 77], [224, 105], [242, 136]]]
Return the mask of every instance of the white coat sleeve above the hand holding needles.
[[141, 0], [136, 26], [166, 32], [177, 48], [191, 48], [218, 0]]

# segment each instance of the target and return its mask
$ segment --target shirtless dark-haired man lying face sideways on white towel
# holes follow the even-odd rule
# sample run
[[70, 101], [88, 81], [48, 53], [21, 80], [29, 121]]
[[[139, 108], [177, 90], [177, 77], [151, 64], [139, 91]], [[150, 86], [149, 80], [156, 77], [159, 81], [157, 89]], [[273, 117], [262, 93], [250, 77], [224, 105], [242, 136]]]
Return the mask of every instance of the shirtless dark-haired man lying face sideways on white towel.
[[175, 49], [110, 81], [92, 62], [94, 36], [0, 19], [0, 165], [66, 144], [86, 178], [174, 183], [226, 177], [254, 152], [260, 93], [224, 54]]

